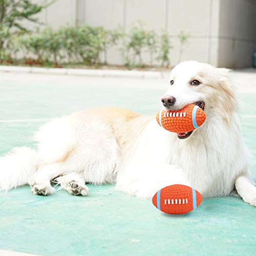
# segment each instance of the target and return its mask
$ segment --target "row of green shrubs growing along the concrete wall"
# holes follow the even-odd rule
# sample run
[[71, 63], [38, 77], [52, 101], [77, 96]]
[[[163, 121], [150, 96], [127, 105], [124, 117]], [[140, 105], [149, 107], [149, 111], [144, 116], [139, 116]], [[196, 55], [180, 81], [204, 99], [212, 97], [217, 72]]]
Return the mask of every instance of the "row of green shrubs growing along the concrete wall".
[[[1, 1], [1, 0], [0, 0]], [[0, 38], [5, 38], [4, 51], [0, 48], [0, 61], [10, 59], [10, 56], [22, 50], [32, 59], [31, 63], [54, 63], [55, 66], [63, 62], [84, 63], [86, 65], [99, 65], [100, 56], [106, 64], [108, 49], [117, 45], [118, 40], [124, 38], [126, 50], [125, 65], [129, 67], [143, 67], [142, 51], [150, 55], [150, 65], [160, 60], [161, 66], [169, 66], [170, 46], [169, 36], [163, 33], [158, 39], [154, 31], [146, 31], [141, 25], [134, 26], [129, 33], [124, 34], [121, 28], [105, 30], [103, 27], [83, 25], [78, 27], [65, 26], [58, 30], [48, 27], [42, 31], [11, 34], [8, 27], [0, 30]], [[188, 36], [179, 35], [182, 46]], [[17, 44], [18, 42], [18, 44]], [[3, 47], [2, 47], [3, 49]], [[158, 52], [158, 56], [155, 56]], [[25, 55], [23, 54], [23, 55]]]

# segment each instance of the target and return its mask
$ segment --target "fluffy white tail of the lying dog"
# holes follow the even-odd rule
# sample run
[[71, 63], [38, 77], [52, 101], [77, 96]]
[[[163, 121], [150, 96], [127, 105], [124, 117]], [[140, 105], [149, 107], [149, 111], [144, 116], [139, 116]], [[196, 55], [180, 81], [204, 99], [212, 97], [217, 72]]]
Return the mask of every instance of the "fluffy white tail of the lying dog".
[[15, 147], [0, 158], [0, 190], [28, 184], [35, 173], [39, 157], [29, 147]]

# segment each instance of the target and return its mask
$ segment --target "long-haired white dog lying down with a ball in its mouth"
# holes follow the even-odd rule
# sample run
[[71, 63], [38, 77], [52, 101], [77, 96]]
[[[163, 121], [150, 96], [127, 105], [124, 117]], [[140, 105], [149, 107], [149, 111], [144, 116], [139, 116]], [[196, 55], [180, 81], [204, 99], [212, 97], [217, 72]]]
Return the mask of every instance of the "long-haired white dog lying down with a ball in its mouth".
[[0, 160], [0, 189], [30, 184], [51, 195], [55, 180], [73, 195], [88, 195], [85, 182], [115, 182], [129, 195], [152, 197], [170, 184], [196, 188], [204, 198], [233, 190], [256, 206], [248, 173], [249, 153], [238, 116], [229, 70], [186, 61], [176, 66], [162, 98], [165, 109], [197, 102], [206, 121], [197, 130], [170, 133], [155, 116], [117, 108], [86, 110], [55, 119], [35, 136], [38, 151], [22, 147]]

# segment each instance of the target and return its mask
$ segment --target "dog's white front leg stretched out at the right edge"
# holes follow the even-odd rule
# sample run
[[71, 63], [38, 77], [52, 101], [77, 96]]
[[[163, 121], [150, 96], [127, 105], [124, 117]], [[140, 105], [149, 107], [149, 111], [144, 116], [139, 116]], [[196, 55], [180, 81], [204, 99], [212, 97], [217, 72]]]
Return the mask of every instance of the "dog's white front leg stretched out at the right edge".
[[253, 185], [248, 173], [240, 175], [236, 182], [236, 189], [243, 200], [253, 206], [256, 206], [256, 187]]

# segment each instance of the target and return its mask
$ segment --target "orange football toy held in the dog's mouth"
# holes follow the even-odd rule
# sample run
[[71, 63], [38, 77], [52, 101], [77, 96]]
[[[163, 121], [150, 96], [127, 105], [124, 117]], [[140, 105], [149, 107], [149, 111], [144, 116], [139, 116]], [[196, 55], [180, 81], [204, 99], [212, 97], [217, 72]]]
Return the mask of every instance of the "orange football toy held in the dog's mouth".
[[177, 133], [182, 137], [185, 133], [201, 126], [206, 119], [206, 114], [198, 104], [191, 103], [177, 111], [160, 110], [156, 119], [165, 130]]

